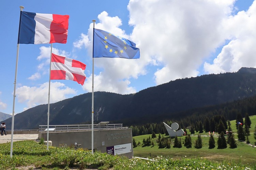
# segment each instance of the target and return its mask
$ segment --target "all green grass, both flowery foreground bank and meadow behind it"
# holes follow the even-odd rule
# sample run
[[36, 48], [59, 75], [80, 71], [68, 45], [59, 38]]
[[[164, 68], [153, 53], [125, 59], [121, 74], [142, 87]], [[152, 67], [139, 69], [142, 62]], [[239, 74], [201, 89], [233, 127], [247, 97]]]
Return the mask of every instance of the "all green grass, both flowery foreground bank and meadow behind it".
[[[251, 133], [254, 132], [256, 116], [252, 120]], [[235, 121], [231, 121], [232, 130], [236, 132]], [[198, 135], [196, 133], [195, 135]], [[252, 148], [244, 142], [237, 141], [237, 148], [217, 149], [217, 137], [215, 137], [215, 148], [208, 149], [208, 133], [200, 134], [202, 148], [195, 149], [194, 142], [197, 137], [192, 138], [192, 148], [158, 149], [156, 138], [152, 139], [154, 146], [142, 146], [142, 140], [151, 135], [135, 136], [136, 142], [140, 142], [133, 148], [134, 156], [151, 159], [127, 158], [120, 155], [109, 155], [107, 153], [94, 152], [86, 149], [74, 149], [69, 146], [49, 147], [40, 145], [32, 140], [13, 142], [13, 157], [10, 157], [10, 143], [0, 144], [0, 170], [70, 170], [70, 169], [102, 169], [102, 170], [131, 170], [131, 169], [225, 169], [225, 170], [247, 170], [256, 169], [256, 148]], [[205, 137], [204, 137], [205, 135]], [[161, 135], [162, 137], [163, 135]], [[164, 136], [165, 138], [169, 136]], [[236, 134], [235, 137], [237, 138]], [[184, 141], [185, 137], [179, 137]], [[250, 141], [255, 142], [253, 134]], [[174, 139], [171, 139], [173, 146]]]

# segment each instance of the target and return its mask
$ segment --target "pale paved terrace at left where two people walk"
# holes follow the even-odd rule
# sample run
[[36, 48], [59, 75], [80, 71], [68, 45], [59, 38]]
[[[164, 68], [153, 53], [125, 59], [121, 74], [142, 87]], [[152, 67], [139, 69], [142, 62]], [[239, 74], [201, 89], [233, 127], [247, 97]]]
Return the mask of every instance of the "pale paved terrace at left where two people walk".
[[[0, 135], [0, 143], [7, 143], [11, 142], [12, 135]], [[13, 135], [13, 141], [20, 141], [20, 140], [35, 140], [38, 138], [38, 134], [20, 134], [20, 135]]]

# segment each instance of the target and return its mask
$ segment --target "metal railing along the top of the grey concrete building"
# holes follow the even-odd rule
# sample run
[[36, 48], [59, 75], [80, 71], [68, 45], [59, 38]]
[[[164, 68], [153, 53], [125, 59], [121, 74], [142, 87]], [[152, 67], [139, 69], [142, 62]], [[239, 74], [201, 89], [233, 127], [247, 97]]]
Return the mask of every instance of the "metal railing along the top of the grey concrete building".
[[[109, 129], [128, 129], [123, 127], [123, 124], [94, 124], [93, 130], [109, 130]], [[49, 132], [71, 132], [71, 131], [91, 131], [91, 124], [76, 124], [76, 125], [49, 125]], [[39, 125], [39, 132], [46, 133], [47, 125]]]

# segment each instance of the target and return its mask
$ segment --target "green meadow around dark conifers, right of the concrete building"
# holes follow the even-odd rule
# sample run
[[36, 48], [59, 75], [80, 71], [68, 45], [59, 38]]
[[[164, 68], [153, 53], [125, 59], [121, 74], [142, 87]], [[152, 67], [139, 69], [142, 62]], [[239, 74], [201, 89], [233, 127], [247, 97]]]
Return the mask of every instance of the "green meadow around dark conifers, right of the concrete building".
[[[254, 133], [254, 128], [255, 128], [255, 123], [256, 123], [256, 116], [250, 116], [250, 119], [252, 121], [251, 128], [250, 128], [250, 133], [251, 135], [249, 136], [250, 143], [254, 145], [255, 139], [253, 136]], [[232, 131], [235, 135], [235, 139], [237, 138], [237, 130], [236, 130], [236, 121], [232, 120], [230, 121], [231, 123], [231, 128]], [[187, 130], [189, 133], [189, 131]], [[199, 133], [195, 133], [194, 135], [198, 135]], [[181, 138], [182, 141], [182, 148], [173, 148], [173, 142], [174, 138], [171, 139], [171, 148], [170, 149], [159, 149], [157, 146], [156, 139], [158, 138], [159, 134], [156, 134], [156, 138], [152, 139], [154, 141], [154, 146], [145, 146], [143, 147], [142, 145], [142, 140], [145, 138], [147, 139], [149, 136], [151, 138], [151, 135], [141, 135], [141, 136], [135, 136], [133, 137], [136, 140], [136, 143], [140, 141], [140, 145], [137, 146], [136, 148], [133, 148], [134, 156], [138, 157], [144, 157], [144, 158], [153, 158], [157, 156], [169, 156], [173, 159], [177, 158], [207, 158], [212, 161], [216, 162], [221, 162], [221, 161], [234, 161], [237, 163], [243, 163], [243, 164], [255, 164], [256, 162], [256, 147], [253, 148], [250, 145], [247, 145], [244, 142], [237, 141], [237, 148], [235, 149], [230, 149], [229, 145], [227, 145], [227, 148], [225, 149], [217, 149], [217, 135], [215, 136], [215, 148], [213, 149], [208, 149], [209, 145], [209, 133], [201, 133], [201, 138], [202, 138], [202, 144], [203, 147], [201, 149], [196, 149], [194, 148], [194, 143], [197, 137], [192, 138], [192, 148], [186, 148], [183, 145], [183, 141], [185, 139], [185, 136], [178, 137]], [[203, 135], [207, 135], [207, 137], [203, 137]], [[163, 135], [161, 135], [163, 136]], [[164, 137], [169, 137], [165, 136]]]

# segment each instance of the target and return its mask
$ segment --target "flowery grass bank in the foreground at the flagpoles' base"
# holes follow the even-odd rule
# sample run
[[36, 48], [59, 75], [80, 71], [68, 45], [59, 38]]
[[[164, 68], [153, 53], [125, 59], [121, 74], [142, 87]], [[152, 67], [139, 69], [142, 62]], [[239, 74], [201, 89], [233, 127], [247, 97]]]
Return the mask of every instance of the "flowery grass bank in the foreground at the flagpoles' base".
[[208, 159], [187, 158], [174, 160], [159, 156], [152, 160], [128, 159], [123, 156], [108, 155], [66, 146], [49, 147], [34, 141], [13, 143], [13, 158], [10, 158], [10, 143], [0, 144], [0, 169], [255, 169], [256, 166], [224, 160], [213, 162]]

